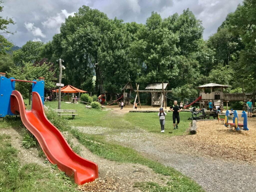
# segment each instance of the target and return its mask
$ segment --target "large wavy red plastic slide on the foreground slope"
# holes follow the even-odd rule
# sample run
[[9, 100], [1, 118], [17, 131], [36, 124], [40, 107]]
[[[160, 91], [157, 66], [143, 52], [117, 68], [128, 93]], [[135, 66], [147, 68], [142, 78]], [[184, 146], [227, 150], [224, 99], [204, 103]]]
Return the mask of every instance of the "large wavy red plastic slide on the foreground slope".
[[73, 176], [78, 185], [98, 178], [98, 165], [72, 151], [61, 132], [46, 118], [40, 95], [37, 92], [32, 95], [32, 109], [25, 110], [22, 95], [13, 91], [11, 111], [20, 114], [23, 124], [36, 137], [49, 161]]

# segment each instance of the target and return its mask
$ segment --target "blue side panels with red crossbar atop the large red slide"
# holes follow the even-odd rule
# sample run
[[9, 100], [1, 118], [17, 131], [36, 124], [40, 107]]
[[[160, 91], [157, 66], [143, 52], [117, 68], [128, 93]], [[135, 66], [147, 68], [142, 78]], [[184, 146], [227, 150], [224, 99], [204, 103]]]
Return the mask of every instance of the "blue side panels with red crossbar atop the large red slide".
[[[44, 79], [44, 78], [39, 78], [39, 79]], [[0, 76], [0, 117], [4, 117], [6, 115], [15, 115], [11, 112], [11, 107], [10, 107], [11, 94], [15, 90], [15, 81], [32, 83], [32, 92], [38, 92], [44, 104], [44, 87], [45, 87], [44, 80], [25, 81], [25, 80], [16, 80], [13, 77], [8, 79], [4, 76]]]

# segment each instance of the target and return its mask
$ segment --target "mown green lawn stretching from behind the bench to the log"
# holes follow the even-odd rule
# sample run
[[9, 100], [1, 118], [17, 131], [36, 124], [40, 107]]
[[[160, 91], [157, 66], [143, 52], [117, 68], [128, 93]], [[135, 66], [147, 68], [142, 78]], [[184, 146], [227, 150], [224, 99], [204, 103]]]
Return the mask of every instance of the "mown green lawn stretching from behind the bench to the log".
[[[57, 101], [45, 102], [45, 105], [52, 108], [58, 108]], [[111, 114], [111, 111], [89, 110], [85, 108], [84, 104], [69, 104], [61, 102], [61, 109], [75, 109], [78, 115], [72, 120], [71, 116], [64, 116], [69, 120], [72, 126], [102, 126], [111, 129], [134, 129], [141, 128], [148, 132], [160, 133], [161, 127], [157, 113], [126, 113], [123, 116]], [[191, 120], [190, 112], [180, 112], [179, 129], [173, 130], [172, 113], [167, 113], [165, 122], [164, 135], [182, 135], [190, 126]], [[169, 134], [169, 132], [172, 132]]]

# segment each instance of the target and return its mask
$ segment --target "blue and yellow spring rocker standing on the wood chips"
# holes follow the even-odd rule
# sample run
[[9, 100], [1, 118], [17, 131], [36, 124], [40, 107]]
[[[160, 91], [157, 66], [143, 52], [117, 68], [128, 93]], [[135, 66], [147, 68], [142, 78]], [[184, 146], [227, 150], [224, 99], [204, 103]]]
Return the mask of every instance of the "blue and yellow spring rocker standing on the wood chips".
[[[238, 114], [242, 114], [243, 124], [238, 123]], [[248, 131], [249, 130], [247, 127], [247, 114], [245, 111], [243, 111], [242, 113], [237, 113], [237, 111], [235, 110], [233, 113], [233, 123], [228, 122], [229, 115], [230, 115], [230, 113], [227, 110], [226, 114], [225, 114], [225, 123], [224, 123], [224, 125], [226, 127], [228, 127], [228, 126], [234, 127], [236, 131], [239, 131], [239, 130]]]

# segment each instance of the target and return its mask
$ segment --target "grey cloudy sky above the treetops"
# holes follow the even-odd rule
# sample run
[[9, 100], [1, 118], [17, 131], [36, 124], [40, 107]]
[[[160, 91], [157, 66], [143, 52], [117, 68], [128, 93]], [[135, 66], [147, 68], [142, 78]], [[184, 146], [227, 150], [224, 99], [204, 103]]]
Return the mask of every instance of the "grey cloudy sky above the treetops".
[[47, 42], [59, 33], [60, 24], [82, 5], [99, 9], [109, 18], [115, 16], [124, 22], [145, 23], [152, 11], [162, 18], [181, 14], [189, 8], [202, 20], [204, 39], [215, 33], [228, 13], [236, 10], [242, 0], [3, 0], [3, 17], [12, 17], [17, 24], [9, 26], [14, 35], [6, 36], [17, 46], [28, 40]]

